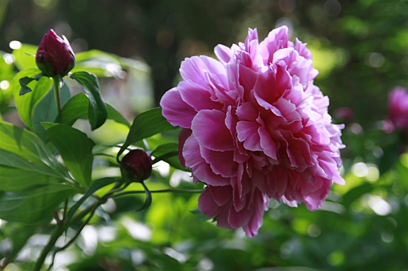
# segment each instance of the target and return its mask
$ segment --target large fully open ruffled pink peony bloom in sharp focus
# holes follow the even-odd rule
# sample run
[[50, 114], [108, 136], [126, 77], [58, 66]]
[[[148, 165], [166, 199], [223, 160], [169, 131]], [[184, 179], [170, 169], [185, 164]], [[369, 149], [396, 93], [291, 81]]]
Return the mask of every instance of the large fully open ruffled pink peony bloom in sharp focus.
[[219, 61], [182, 62], [183, 81], [164, 94], [163, 115], [180, 134], [180, 160], [195, 182], [207, 184], [201, 212], [223, 228], [253, 237], [269, 200], [317, 210], [339, 174], [343, 125], [331, 124], [328, 98], [313, 84], [318, 71], [306, 44], [288, 40], [288, 27], [259, 43], [215, 47]]

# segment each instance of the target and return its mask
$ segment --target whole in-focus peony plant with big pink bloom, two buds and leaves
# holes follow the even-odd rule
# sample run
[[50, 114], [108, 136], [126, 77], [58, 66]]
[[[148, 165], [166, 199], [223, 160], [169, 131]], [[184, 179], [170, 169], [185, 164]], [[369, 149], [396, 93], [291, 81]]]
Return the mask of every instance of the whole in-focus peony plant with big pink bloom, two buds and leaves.
[[[78, 65], [87, 57], [97, 63], [91, 59], [95, 52], [75, 56], [66, 38], [50, 29], [37, 49], [37, 67], [25, 67], [12, 82], [25, 128], [0, 122], [0, 219], [21, 223], [18, 238], [10, 237], [13, 252], [0, 267], [13, 261], [35, 230], [53, 228], [32, 266], [42, 269], [52, 254], [50, 269], [55, 255], [75, 242], [97, 211], [104, 212], [101, 205], [130, 194], [145, 195], [135, 208], [140, 212], [150, 206], [152, 193], [200, 193], [202, 214], [219, 227], [243, 228], [248, 237], [257, 235], [271, 199], [319, 209], [332, 183], [344, 184], [343, 125], [331, 123], [328, 98], [313, 83], [318, 72], [305, 45], [289, 41], [286, 26], [262, 42], [249, 29], [244, 43], [216, 46], [218, 60], [186, 58], [183, 80], [165, 93], [162, 107], [140, 113], [130, 124], [105, 103], [96, 75]], [[104, 61], [107, 56], [116, 59], [104, 54]], [[85, 70], [74, 67], [75, 58]], [[71, 97], [67, 77], [85, 94]], [[78, 119], [87, 119], [91, 130], [110, 119], [129, 133], [121, 144], [107, 146], [73, 127]], [[149, 141], [177, 126], [178, 143]], [[94, 174], [96, 156], [121, 174]], [[160, 161], [191, 171], [200, 183], [195, 188], [205, 188], [150, 190], [146, 182], [154, 179]]]

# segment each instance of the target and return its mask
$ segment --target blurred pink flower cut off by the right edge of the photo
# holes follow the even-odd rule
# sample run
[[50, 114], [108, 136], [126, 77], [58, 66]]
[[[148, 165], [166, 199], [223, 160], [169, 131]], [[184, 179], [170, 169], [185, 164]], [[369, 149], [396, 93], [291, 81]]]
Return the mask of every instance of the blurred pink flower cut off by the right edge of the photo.
[[388, 112], [394, 126], [408, 132], [408, 91], [404, 87], [398, 86], [391, 91]]

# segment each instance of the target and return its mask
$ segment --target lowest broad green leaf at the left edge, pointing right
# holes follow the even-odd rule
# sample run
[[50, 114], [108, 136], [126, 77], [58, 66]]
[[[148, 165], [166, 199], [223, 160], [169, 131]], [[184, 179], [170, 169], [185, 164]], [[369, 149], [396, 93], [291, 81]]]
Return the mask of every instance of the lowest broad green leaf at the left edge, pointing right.
[[0, 218], [7, 221], [40, 223], [52, 218], [53, 210], [75, 193], [67, 185], [47, 185], [19, 192], [0, 193]]

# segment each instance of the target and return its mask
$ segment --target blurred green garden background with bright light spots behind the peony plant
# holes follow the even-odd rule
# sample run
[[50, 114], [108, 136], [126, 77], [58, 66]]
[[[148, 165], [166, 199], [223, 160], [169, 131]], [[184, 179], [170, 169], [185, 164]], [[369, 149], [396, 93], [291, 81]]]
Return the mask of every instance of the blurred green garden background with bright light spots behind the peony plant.
[[[93, 51], [83, 64], [100, 67], [105, 100], [132, 119], [180, 81], [185, 57], [213, 56], [218, 43], [244, 41], [248, 27], [257, 27], [263, 40], [286, 24], [292, 41], [309, 44], [320, 72], [315, 84], [329, 96], [334, 121], [346, 123], [346, 186], [334, 186], [321, 210], [272, 202], [259, 235], [248, 239], [192, 215], [196, 194], [154, 194], [142, 213], [132, 211], [142, 197], [123, 197], [108, 202], [78, 242], [57, 254], [55, 270], [408, 270], [406, 139], [381, 130], [388, 93], [408, 87], [407, 1], [0, 0], [0, 23], [0, 111], [7, 121], [18, 122], [9, 82], [21, 66], [13, 55], [29, 51], [13, 41], [38, 45], [49, 28], [65, 35], [75, 53], [111, 53]], [[126, 133], [108, 124], [91, 136], [112, 143]], [[149, 144], [169, 141], [176, 133]], [[118, 174], [97, 161], [95, 169], [98, 177]], [[166, 164], [147, 185], [197, 188], [189, 173]], [[46, 230], [29, 239], [7, 270], [27, 268]], [[2, 222], [0, 257], [18, 234], [18, 225]]]

